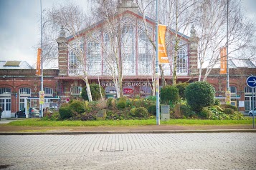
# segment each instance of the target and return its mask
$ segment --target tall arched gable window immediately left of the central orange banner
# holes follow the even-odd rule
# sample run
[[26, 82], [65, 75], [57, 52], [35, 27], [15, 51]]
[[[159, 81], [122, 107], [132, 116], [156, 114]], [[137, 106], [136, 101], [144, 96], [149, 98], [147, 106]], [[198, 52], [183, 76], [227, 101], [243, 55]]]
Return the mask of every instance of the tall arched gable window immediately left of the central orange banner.
[[138, 36], [138, 74], [152, 74], [153, 48], [148, 36], [142, 32]]

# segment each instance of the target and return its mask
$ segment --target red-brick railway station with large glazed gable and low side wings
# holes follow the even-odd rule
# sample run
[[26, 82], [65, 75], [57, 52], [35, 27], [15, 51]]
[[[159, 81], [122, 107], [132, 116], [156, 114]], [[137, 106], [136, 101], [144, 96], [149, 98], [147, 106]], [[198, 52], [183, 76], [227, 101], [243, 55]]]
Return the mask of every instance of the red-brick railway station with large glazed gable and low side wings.
[[[153, 95], [155, 49], [151, 41], [154, 41], [156, 23], [153, 19], [146, 18], [146, 29], [143, 16], [138, 13], [138, 6], [132, 1], [123, 1], [119, 8], [113, 21], [100, 21], [74, 36], [66, 37], [64, 28], [61, 28], [57, 39], [58, 69], [43, 71], [44, 107], [58, 108], [70, 99], [82, 99], [85, 76], [90, 84], [103, 86], [106, 98], [116, 97], [117, 89], [113, 80], [120, 70], [124, 96]], [[113, 24], [114, 34], [111, 34], [110, 24]], [[174, 34], [171, 29], [166, 32], [166, 49], [170, 63], [161, 65], [161, 71], [166, 83], [171, 84]], [[190, 37], [179, 34], [179, 39], [181, 47], [176, 59], [176, 83], [197, 81], [199, 39], [194, 26], [191, 28]], [[232, 104], [238, 106], [240, 111], [249, 111], [252, 109], [252, 90], [255, 95], [256, 91], [247, 86], [246, 79], [256, 74], [256, 66], [252, 62], [242, 67], [232, 61], [230, 63]], [[29, 107], [39, 107], [41, 81], [40, 76], [35, 74], [36, 70], [26, 61], [0, 61], [0, 106], [4, 110], [2, 118], [14, 117], [16, 111], [24, 108], [27, 110]], [[219, 69], [213, 69], [207, 81], [214, 86], [216, 97], [224, 102], [227, 76], [219, 74]]]

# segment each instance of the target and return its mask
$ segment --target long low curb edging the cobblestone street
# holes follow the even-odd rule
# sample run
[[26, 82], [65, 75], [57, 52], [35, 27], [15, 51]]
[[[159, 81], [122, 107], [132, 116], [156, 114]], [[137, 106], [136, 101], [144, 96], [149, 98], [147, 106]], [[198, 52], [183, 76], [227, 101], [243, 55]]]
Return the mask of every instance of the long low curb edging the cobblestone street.
[[256, 129], [166, 130], [166, 131], [49, 131], [0, 132], [0, 135], [80, 135], [80, 134], [190, 134], [190, 133], [255, 133]]

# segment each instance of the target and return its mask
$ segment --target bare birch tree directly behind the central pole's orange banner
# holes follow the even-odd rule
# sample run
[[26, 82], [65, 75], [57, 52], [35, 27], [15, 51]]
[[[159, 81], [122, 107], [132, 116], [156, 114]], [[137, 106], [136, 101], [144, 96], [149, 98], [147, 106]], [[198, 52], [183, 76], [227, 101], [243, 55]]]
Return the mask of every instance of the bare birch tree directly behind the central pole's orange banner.
[[[179, 62], [182, 59], [178, 59], [178, 51], [188, 44], [184, 44], [182, 41], [183, 35], [188, 31], [189, 26], [194, 21], [194, 14], [196, 13], [196, 1], [176, 1], [176, 0], [159, 0], [159, 21], [161, 24], [167, 26], [166, 37], [166, 46], [167, 52], [169, 54], [170, 64], [159, 64], [161, 70], [161, 79], [164, 86], [164, 69], [171, 69], [173, 74], [173, 84], [176, 84], [176, 72], [177, 72], [177, 61]], [[146, 16], [151, 16], [152, 19], [156, 19], [156, 16], [152, 11], [156, 9], [156, 2], [151, 1], [139, 1], [140, 11], [143, 15], [144, 24], [146, 25]], [[147, 27], [146, 27], [147, 28]], [[171, 29], [175, 28], [175, 29]], [[148, 35], [148, 31], [146, 30]], [[153, 41], [152, 37], [148, 36], [151, 39], [153, 47], [156, 49], [156, 44]], [[172, 57], [171, 57], [172, 56]], [[187, 57], [187, 56], [186, 56]], [[189, 68], [187, 68], [189, 69]]]

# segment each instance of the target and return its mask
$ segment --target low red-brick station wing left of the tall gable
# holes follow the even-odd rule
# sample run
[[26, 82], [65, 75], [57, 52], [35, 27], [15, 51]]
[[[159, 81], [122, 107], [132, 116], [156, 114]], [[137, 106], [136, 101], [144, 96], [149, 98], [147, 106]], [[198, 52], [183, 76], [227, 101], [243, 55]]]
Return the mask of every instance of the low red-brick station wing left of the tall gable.
[[[40, 76], [27, 61], [0, 61], [0, 106], [2, 118], [14, 117], [16, 111], [39, 107]], [[58, 70], [44, 70], [45, 106], [57, 106]]]

